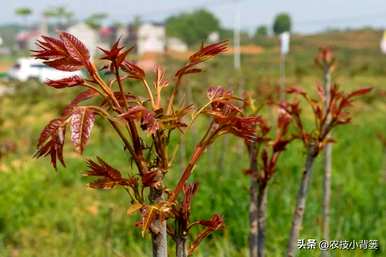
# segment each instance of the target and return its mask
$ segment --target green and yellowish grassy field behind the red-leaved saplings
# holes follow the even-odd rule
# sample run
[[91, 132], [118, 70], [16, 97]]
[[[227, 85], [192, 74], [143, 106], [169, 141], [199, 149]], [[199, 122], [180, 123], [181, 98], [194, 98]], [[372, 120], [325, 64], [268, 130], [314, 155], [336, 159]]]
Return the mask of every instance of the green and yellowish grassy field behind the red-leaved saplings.
[[[374, 45], [344, 46], [341, 38], [335, 38], [339, 42], [335, 50], [339, 60], [336, 80], [340, 86], [349, 90], [371, 85], [375, 90], [355, 104], [352, 124], [335, 133], [331, 238], [376, 239], [380, 249], [334, 251], [333, 256], [381, 257], [386, 254], [386, 57], [380, 56]], [[331, 38], [326, 40], [334, 43]], [[323, 37], [298, 41], [288, 58], [287, 82], [311, 90], [320, 80], [313, 56], [317, 46], [326, 42]], [[199, 103], [208, 85], [222, 84], [236, 92], [253, 90], [262, 99], [277, 87], [278, 59], [278, 50], [268, 48], [257, 56], [243, 56], [242, 72], [233, 73], [232, 58], [219, 58], [207, 65], [207, 72], [186, 85], [192, 89], [186, 95], [192, 95]], [[167, 67], [173, 69], [175, 65], [172, 62]], [[0, 98], [0, 142], [11, 140], [17, 149], [0, 163], [0, 256], [149, 256], [149, 235], [142, 240], [140, 231], [134, 227], [138, 217], [127, 217], [129, 202], [125, 192], [89, 189], [87, 178], [81, 176], [86, 169], [82, 159], [87, 156], [99, 155], [116, 167], [128, 169], [129, 160], [122, 154], [122, 146], [112, 131], [98, 123], [85, 156], [74, 154], [67, 146], [68, 167], [55, 172], [48, 160], [35, 160], [31, 156], [40, 129], [60, 113], [74, 92], [47, 89], [36, 82], [8, 86], [15, 86], [16, 92]], [[185, 142], [187, 156], [199, 137], [196, 129], [194, 136]], [[269, 257], [283, 256], [286, 249], [304, 159], [301, 145], [291, 145], [279, 162], [269, 189], [266, 241]], [[182, 156], [178, 158], [178, 162], [184, 161]], [[181, 172], [177, 167], [170, 171], [171, 186]], [[200, 182], [193, 203], [194, 217], [209, 218], [220, 213], [226, 227], [205, 240], [197, 256], [247, 256], [249, 181], [241, 172], [247, 167], [244, 146], [232, 137], [218, 141], [199, 162], [192, 178]], [[300, 237], [319, 240], [320, 160], [314, 171]], [[299, 252], [304, 257], [319, 255], [318, 250]]]

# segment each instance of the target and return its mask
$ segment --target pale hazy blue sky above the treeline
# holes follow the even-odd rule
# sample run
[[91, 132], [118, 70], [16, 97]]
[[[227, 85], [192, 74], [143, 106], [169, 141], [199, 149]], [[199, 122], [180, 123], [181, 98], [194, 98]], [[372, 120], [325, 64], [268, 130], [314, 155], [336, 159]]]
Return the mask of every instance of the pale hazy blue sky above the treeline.
[[[314, 32], [325, 28], [386, 27], [386, 0], [239, 0], [241, 27], [254, 30], [259, 24], [272, 23], [278, 12], [289, 12], [294, 30]], [[235, 0], [1, 0], [0, 24], [17, 22], [14, 10], [28, 6], [34, 10], [36, 21], [42, 10], [64, 5], [81, 19], [95, 12], [106, 12], [109, 20], [130, 21], [134, 15], [143, 20], [162, 21], [181, 11], [206, 7], [220, 18], [223, 25], [232, 27]]]

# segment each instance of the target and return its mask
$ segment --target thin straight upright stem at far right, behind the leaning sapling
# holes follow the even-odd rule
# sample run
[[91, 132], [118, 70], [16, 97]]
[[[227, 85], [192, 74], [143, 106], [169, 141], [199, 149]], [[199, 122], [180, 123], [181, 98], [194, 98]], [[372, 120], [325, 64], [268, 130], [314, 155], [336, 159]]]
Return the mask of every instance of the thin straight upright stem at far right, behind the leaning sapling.
[[[330, 102], [331, 90], [331, 69], [329, 66], [324, 67], [324, 110], [328, 108]], [[330, 117], [327, 117], [327, 122]], [[329, 135], [327, 135], [329, 136]], [[322, 239], [330, 239], [330, 198], [331, 198], [331, 172], [332, 172], [332, 144], [327, 144], [324, 149], [324, 179], [323, 179], [323, 216], [322, 216]], [[329, 256], [329, 252], [321, 251], [322, 257]]]

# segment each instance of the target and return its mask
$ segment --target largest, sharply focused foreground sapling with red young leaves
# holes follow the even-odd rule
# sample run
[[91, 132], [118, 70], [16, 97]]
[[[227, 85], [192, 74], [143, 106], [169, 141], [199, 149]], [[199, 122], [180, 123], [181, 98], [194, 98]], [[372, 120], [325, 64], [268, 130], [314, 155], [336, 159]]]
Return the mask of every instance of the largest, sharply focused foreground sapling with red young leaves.
[[[73, 35], [61, 32], [58, 38], [43, 36], [37, 45], [39, 48], [34, 51], [34, 56], [46, 65], [64, 71], [84, 69], [88, 74], [87, 78], [73, 76], [47, 82], [48, 86], [58, 89], [80, 87], [84, 91], [69, 103], [60, 117], [50, 121], [43, 129], [38, 140], [37, 157], [49, 156], [55, 169], [58, 162], [64, 166], [63, 146], [67, 127], [71, 128], [70, 138], [76, 151], [83, 153], [95, 119], [103, 119], [122, 141], [122, 156], [129, 155], [134, 167], [128, 165], [126, 169], [118, 170], [101, 157], [88, 159], [86, 175], [97, 178], [90, 186], [97, 189], [121, 187], [127, 192], [131, 201], [128, 214], [140, 214], [137, 226], [143, 235], [150, 232], [154, 257], [168, 256], [167, 234], [177, 244], [176, 256], [183, 257], [192, 254], [211, 232], [222, 228], [223, 220], [218, 214], [209, 220], [190, 220], [191, 199], [197, 191], [197, 184], [187, 184], [187, 181], [202, 154], [219, 136], [230, 133], [253, 141], [258, 118], [246, 117], [239, 106], [242, 101], [221, 87], [211, 87], [208, 102], [196, 110], [190, 104], [179, 106], [176, 98], [183, 78], [200, 72], [199, 65], [224, 52], [226, 43], [202, 46], [190, 56], [188, 62], [175, 73], [171, 92], [168, 90], [171, 83], [162, 68], [155, 68], [154, 80], [150, 84], [147, 74], [126, 60], [131, 49], [123, 48], [119, 41], [109, 50], [101, 49], [101, 59], [107, 64], [105, 69], [113, 74], [108, 81], [102, 79], [88, 49]], [[134, 94], [125, 88], [127, 80], [138, 82], [145, 95]], [[85, 104], [86, 101], [88, 104]], [[188, 114], [192, 115], [189, 122]], [[178, 131], [184, 131], [184, 137], [189, 136], [186, 127], [192, 126], [201, 114], [210, 118], [208, 128], [201, 132], [203, 136], [177, 185], [168, 188], [164, 178], [171, 165], [175, 164], [169, 157], [172, 152], [169, 139]], [[193, 226], [200, 226], [202, 230], [195, 237], [191, 235], [194, 239], [188, 246], [187, 239]]]

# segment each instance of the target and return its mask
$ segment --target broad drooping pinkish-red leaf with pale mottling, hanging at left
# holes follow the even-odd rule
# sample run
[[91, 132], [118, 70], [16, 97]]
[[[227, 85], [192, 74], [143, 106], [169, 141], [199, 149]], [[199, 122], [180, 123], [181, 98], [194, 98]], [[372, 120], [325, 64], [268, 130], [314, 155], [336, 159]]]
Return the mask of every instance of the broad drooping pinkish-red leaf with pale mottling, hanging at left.
[[94, 126], [95, 113], [89, 108], [77, 107], [71, 115], [71, 141], [76, 151], [83, 153]]

